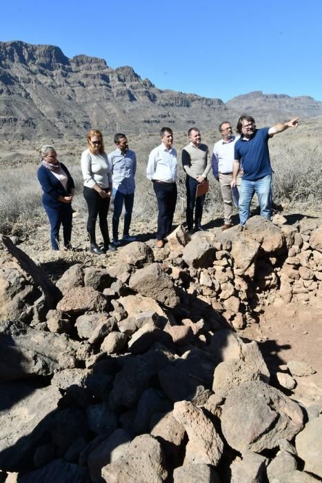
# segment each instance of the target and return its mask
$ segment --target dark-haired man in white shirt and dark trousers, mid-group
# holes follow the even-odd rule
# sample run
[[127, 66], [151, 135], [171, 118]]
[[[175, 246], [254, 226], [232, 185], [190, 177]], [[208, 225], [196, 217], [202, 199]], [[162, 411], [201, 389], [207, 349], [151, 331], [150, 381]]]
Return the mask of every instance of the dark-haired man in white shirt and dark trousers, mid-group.
[[177, 204], [177, 151], [172, 148], [172, 129], [162, 128], [160, 136], [161, 144], [150, 152], [146, 168], [146, 175], [153, 183], [159, 209], [157, 248], [163, 248], [165, 238], [171, 233]]

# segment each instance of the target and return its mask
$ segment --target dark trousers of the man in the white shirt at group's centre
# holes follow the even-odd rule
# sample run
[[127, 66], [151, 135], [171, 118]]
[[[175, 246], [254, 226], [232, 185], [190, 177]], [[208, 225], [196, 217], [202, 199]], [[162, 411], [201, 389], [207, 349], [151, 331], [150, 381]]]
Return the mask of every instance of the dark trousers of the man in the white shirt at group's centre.
[[177, 203], [177, 184], [154, 181], [153, 188], [159, 209], [157, 239], [163, 240], [171, 233]]

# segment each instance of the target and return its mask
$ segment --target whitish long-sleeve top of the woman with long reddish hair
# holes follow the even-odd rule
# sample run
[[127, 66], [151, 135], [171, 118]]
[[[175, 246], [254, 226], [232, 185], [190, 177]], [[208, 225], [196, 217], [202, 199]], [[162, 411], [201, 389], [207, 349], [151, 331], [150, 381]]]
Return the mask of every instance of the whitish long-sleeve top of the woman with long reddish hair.
[[112, 189], [112, 172], [108, 156], [93, 155], [89, 149], [81, 155], [81, 172], [83, 173], [84, 186], [93, 188], [98, 184], [100, 188]]

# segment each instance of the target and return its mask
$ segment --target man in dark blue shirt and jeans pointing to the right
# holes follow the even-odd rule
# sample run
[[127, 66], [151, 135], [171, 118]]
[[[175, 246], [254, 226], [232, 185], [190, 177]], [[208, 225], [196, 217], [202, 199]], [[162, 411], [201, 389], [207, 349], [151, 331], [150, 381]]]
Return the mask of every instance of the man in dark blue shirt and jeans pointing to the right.
[[297, 128], [299, 118], [276, 124], [271, 128], [256, 129], [252, 116], [243, 114], [237, 122], [241, 135], [234, 146], [234, 168], [231, 186], [237, 186], [239, 167], [243, 166], [243, 177], [239, 196], [239, 222], [241, 226], [250, 217], [250, 203], [254, 193], [259, 199], [261, 216], [270, 220], [272, 210], [272, 166], [268, 139], [288, 128]]

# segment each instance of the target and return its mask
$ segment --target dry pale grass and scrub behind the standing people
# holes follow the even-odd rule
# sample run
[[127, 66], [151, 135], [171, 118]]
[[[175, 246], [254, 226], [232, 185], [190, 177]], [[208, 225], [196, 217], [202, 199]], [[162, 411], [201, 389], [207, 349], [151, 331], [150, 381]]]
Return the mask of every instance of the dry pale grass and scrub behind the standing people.
[[[300, 126], [296, 131], [277, 135], [270, 140], [270, 154], [274, 168], [274, 201], [287, 208], [297, 208], [302, 212], [310, 208], [319, 208], [322, 201], [322, 148], [318, 143], [319, 124], [316, 121]], [[156, 135], [128, 135], [130, 148], [137, 152], [137, 189], [135, 192], [133, 222], [135, 219], [148, 223], [157, 217], [157, 204], [152, 184], [145, 177], [148, 154], [159, 144]], [[206, 132], [203, 142], [210, 151], [214, 141], [219, 139], [218, 132]], [[34, 228], [47, 223], [41, 205], [41, 188], [37, 181], [39, 154], [37, 149], [46, 140], [30, 146], [20, 141], [19, 146], [5, 144], [1, 148], [2, 165], [0, 190], [0, 233], [28, 237]], [[83, 139], [50, 139], [46, 141], [57, 149], [60, 159], [68, 166], [76, 184], [73, 207], [85, 217], [85, 201], [82, 194], [80, 156], [86, 144]], [[179, 155], [178, 202], [175, 219], [183, 220], [185, 214], [185, 175], [181, 167], [181, 149], [188, 139], [184, 133], [174, 135], [174, 146]], [[105, 150], [110, 152], [114, 144], [105, 140]], [[24, 153], [24, 154], [23, 154]], [[219, 184], [210, 175], [210, 193], [205, 202], [208, 217], [221, 217], [222, 201]], [[132, 222], [132, 223], [133, 223]], [[84, 224], [85, 230], [85, 224]]]

